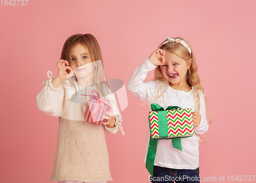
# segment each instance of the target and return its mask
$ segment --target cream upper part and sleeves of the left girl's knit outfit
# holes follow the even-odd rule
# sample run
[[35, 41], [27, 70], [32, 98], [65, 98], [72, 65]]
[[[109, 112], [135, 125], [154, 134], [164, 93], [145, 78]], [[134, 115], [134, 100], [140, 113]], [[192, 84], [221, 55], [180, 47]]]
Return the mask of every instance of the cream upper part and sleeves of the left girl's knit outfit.
[[[84, 112], [86, 110], [87, 101], [86, 97], [80, 94], [92, 95], [92, 90], [96, 89], [95, 85], [93, 87], [82, 88], [77, 85], [77, 83], [71, 86], [69, 82], [67, 82], [67, 85], [63, 84], [62, 82], [58, 88], [55, 88], [52, 85], [52, 79], [45, 82], [44, 85], [46, 85], [46, 87], [44, 87], [36, 96], [37, 108], [40, 111], [48, 115], [61, 117], [64, 119], [76, 121], [84, 120]], [[106, 95], [108, 94], [106, 97], [110, 100], [110, 103], [113, 106], [113, 115], [116, 119], [114, 127], [104, 127], [108, 133], [116, 133], [120, 129], [124, 135], [121, 125], [122, 116], [116, 107], [115, 97], [113, 93], [110, 93], [110, 90], [107, 89], [106, 86], [104, 86], [104, 92]], [[100, 97], [102, 96], [100, 95]]]

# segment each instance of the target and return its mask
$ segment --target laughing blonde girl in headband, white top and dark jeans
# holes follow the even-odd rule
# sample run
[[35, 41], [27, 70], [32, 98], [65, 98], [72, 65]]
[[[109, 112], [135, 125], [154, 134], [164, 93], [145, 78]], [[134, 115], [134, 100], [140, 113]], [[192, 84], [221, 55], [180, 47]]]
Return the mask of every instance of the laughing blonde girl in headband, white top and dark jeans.
[[[155, 78], [143, 82], [147, 72], [155, 69]], [[200, 84], [194, 53], [184, 39], [166, 38], [159, 48], [135, 71], [128, 89], [149, 105], [191, 108], [194, 135], [181, 139], [182, 150], [173, 147], [172, 140], [158, 140], [151, 182], [199, 182], [199, 135], [208, 130], [206, 98]], [[207, 103], [206, 103], [207, 106]], [[150, 133], [147, 136], [147, 146]], [[144, 163], [146, 163], [147, 150]]]

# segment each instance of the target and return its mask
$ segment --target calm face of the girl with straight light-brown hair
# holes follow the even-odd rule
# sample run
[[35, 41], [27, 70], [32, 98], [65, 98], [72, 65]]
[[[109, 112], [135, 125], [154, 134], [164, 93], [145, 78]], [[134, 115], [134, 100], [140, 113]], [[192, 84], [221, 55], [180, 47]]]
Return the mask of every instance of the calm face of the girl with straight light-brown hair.
[[77, 79], [84, 79], [92, 74], [92, 61], [92, 56], [89, 54], [87, 47], [82, 46], [80, 43], [73, 46], [70, 67]]

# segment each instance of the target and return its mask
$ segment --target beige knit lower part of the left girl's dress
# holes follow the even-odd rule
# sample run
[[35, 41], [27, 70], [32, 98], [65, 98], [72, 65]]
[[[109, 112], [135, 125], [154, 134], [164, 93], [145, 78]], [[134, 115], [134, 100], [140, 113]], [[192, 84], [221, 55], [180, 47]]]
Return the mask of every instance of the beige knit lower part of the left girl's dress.
[[104, 126], [59, 118], [52, 181], [112, 180]]

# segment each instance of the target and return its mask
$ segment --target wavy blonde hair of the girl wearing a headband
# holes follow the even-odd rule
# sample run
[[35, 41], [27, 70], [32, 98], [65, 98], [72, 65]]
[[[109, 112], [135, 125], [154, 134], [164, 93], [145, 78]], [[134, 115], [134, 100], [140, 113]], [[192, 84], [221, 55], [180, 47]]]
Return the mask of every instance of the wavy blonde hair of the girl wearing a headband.
[[[179, 38], [180, 40], [185, 41], [184, 39], [182, 39], [180, 37], [177, 37], [177, 38]], [[185, 42], [188, 43], [187, 41], [185, 41]], [[211, 119], [210, 119], [210, 115], [209, 115], [207, 99], [206, 99], [206, 96], [205, 96], [204, 88], [200, 84], [200, 77], [199, 77], [199, 74], [197, 72], [197, 63], [196, 63], [196, 58], [194, 56], [193, 50], [191, 49], [191, 55], [190, 55], [190, 53], [189, 53], [189, 51], [188, 51], [188, 49], [186, 47], [184, 47], [180, 43], [176, 43], [176, 42], [168, 42], [166, 44], [163, 44], [160, 47], [160, 49], [163, 49], [164, 51], [166, 51], [168, 53], [173, 53], [173, 54], [181, 57], [182, 59], [184, 59], [187, 62], [188, 65], [191, 64], [190, 68], [187, 69], [186, 82], [187, 82], [188, 86], [194, 87], [193, 95], [194, 95], [194, 98], [195, 98], [195, 110], [198, 113], [200, 111], [199, 91], [203, 92], [204, 100], [205, 100], [205, 106], [206, 106], [206, 110], [207, 110], [208, 117], [209, 117], [209, 120], [210, 120], [210, 122], [209, 122], [209, 124], [210, 124], [211, 123]], [[156, 91], [157, 94], [159, 94], [161, 88], [164, 87], [164, 91], [162, 92], [162, 94], [158, 95], [158, 97], [160, 97], [161, 95], [163, 95], [165, 93], [169, 82], [166, 79], [164, 79], [164, 77], [163, 77], [163, 75], [161, 73], [159, 65], [155, 69], [154, 74], [155, 74], [154, 80], [158, 81], [158, 83], [159, 83], [159, 89]], [[162, 83], [163, 85], [161, 85], [160, 83]]]

